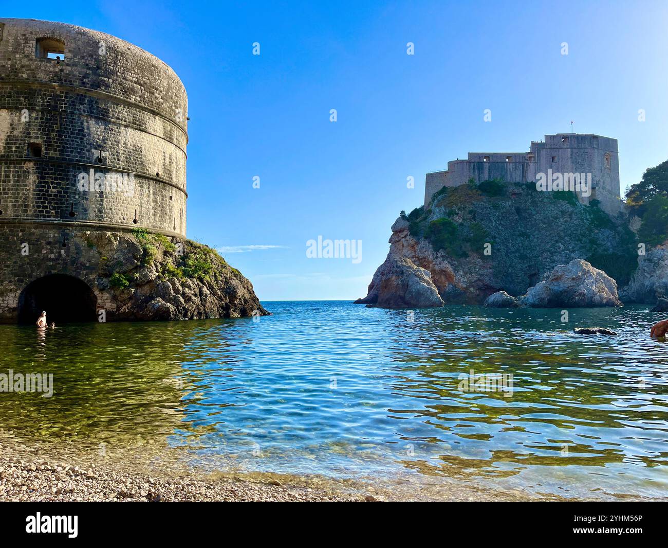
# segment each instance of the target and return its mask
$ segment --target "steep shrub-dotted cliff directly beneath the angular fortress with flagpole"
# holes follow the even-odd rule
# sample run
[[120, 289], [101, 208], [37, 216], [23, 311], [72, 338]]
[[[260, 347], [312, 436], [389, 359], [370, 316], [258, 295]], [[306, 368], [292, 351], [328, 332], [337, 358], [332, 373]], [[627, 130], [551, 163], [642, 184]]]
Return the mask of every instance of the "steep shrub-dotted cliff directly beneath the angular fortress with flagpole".
[[[536, 191], [532, 183], [446, 187], [428, 209], [401, 215], [389, 244], [387, 261], [407, 258], [428, 270], [445, 304], [482, 304], [500, 291], [526, 295], [546, 272], [582, 260], [580, 266], [586, 262], [592, 269], [587, 272], [603, 271], [615, 286], [603, 284], [606, 291], [599, 293], [594, 287], [603, 278], [597, 274], [584, 300], [577, 291], [566, 300], [583, 303], [572, 306], [617, 306], [617, 286], [631, 280], [638, 264], [635, 236], [623, 215], [610, 217], [597, 203], [582, 205], [572, 193]], [[377, 303], [383, 280], [381, 266], [358, 302]], [[544, 288], [534, 288], [536, 302]]]

